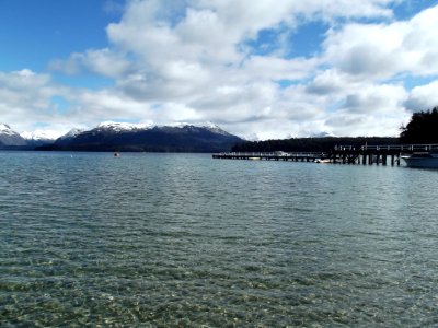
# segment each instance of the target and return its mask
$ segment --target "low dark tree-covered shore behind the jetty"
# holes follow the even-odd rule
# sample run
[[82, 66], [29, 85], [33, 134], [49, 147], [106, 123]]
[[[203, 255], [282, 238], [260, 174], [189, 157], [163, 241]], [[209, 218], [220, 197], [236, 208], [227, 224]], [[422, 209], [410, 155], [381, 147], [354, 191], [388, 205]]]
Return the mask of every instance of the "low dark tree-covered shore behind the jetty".
[[364, 144], [397, 144], [399, 138], [387, 137], [324, 137], [324, 138], [291, 138], [285, 140], [249, 141], [238, 143], [233, 152], [326, 152], [335, 145], [353, 145], [360, 148]]

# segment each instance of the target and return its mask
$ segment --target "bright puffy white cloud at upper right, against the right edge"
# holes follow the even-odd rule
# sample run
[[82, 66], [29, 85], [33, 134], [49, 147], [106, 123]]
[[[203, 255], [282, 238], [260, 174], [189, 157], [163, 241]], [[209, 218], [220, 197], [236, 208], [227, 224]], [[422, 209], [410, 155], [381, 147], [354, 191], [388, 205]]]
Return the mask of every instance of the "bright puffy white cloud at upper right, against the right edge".
[[328, 33], [324, 59], [348, 74], [367, 79], [437, 74], [437, 16], [438, 5], [406, 22], [346, 24]]

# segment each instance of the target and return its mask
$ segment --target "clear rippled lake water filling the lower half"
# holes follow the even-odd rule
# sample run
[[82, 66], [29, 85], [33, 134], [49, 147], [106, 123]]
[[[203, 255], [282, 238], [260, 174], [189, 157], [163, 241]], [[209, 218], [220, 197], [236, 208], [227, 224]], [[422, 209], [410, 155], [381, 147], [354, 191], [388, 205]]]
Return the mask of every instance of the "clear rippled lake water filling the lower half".
[[438, 171], [0, 152], [0, 326], [438, 325]]

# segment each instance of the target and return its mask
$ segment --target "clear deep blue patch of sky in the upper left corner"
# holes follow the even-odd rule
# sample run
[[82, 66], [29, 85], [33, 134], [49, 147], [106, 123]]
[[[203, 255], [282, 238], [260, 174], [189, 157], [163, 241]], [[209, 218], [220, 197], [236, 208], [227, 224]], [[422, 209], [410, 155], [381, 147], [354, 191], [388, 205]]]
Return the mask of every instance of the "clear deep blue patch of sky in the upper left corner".
[[[107, 45], [105, 26], [117, 15], [103, 1], [2, 0], [2, 70], [44, 71], [53, 58]], [[3, 57], [4, 56], [4, 57]]]

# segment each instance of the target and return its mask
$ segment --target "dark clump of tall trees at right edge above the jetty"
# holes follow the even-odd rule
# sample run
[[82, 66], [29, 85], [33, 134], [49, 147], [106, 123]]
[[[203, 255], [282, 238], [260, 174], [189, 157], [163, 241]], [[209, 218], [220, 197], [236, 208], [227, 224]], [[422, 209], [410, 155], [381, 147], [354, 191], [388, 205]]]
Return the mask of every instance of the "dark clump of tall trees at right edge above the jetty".
[[438, 107], [414, 113], [411, 121], [401, 130], [402, 143], [438, 143]]

